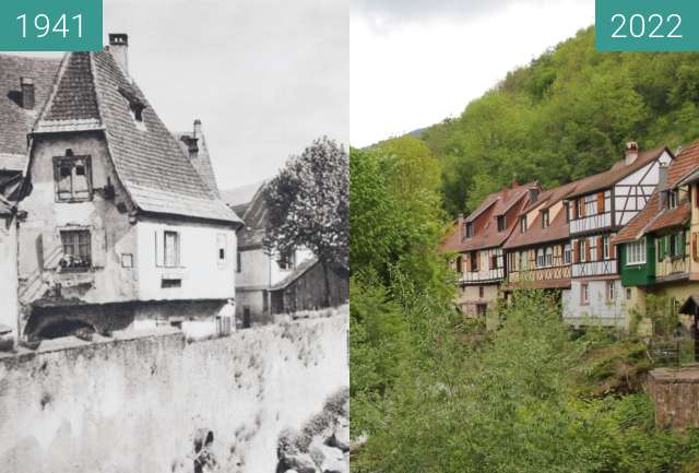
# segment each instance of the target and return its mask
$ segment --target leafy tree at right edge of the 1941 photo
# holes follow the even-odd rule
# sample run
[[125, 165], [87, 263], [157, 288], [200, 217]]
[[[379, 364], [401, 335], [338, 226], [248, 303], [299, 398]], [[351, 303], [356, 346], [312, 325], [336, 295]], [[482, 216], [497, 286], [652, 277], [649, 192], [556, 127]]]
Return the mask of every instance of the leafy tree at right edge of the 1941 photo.
[[329, 269], [350, 260], [350, 159], [327, 137], [292, 156], [264, 188], [269, 208], [264, 247], [281, 255], [307, 248], [323, 269], [330, 305]]

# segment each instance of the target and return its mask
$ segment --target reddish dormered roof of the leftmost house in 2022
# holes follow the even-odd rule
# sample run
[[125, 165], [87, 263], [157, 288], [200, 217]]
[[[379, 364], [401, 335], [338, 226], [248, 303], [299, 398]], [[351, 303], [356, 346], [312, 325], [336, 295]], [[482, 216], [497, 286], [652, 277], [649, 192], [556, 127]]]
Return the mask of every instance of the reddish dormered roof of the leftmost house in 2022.
[[[484, 203], [465, 220], [459, 220], [441, 245], [442, 251], [473, 251], [502, 245], [512, 234], [518, 224], [517, 215], [529, 204], [529, 190], [537, 189], [538, 184], [530, 182], [523, 186], [513, 186], [488, 196]], [[497, 215], [508, 213], [506, 229], [498, 232]], [[462, 222], [473, 222], [474, 235], [472, 238], [461, 239], [459, 225]]]

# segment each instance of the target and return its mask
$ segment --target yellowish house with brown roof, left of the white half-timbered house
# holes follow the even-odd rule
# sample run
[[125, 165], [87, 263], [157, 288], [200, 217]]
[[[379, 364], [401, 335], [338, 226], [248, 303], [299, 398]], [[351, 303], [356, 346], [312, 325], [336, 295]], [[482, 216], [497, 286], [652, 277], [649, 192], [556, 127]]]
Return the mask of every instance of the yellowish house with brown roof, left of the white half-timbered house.
[[542, 192], [519, 215], [505, 244], [508, 289], [570, 288], [572, 250], [564, 203], [580, 181]]

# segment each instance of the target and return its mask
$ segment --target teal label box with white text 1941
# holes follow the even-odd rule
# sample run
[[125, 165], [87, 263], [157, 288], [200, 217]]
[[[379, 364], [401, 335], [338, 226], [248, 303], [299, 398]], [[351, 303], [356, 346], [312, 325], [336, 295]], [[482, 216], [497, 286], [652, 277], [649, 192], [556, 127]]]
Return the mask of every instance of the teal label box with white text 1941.
[[99, 51], [103, 0], [0, 0], [0, 50]]

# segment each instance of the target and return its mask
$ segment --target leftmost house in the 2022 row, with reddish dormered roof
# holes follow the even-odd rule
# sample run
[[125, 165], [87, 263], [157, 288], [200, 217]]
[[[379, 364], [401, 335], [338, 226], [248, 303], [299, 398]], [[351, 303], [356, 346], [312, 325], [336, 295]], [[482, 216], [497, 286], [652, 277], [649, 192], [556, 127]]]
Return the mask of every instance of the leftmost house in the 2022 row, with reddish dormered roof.
[[522, 209], [536, 201], [540, 191], [538, 184], [513, 182], [454, 223], [441, 250], [455, 255], [451, 265], [458, 276], [457, 305], [464, 314], [485, 316], [496, 303], [506, 276], [502, 246], [518, 227]]

